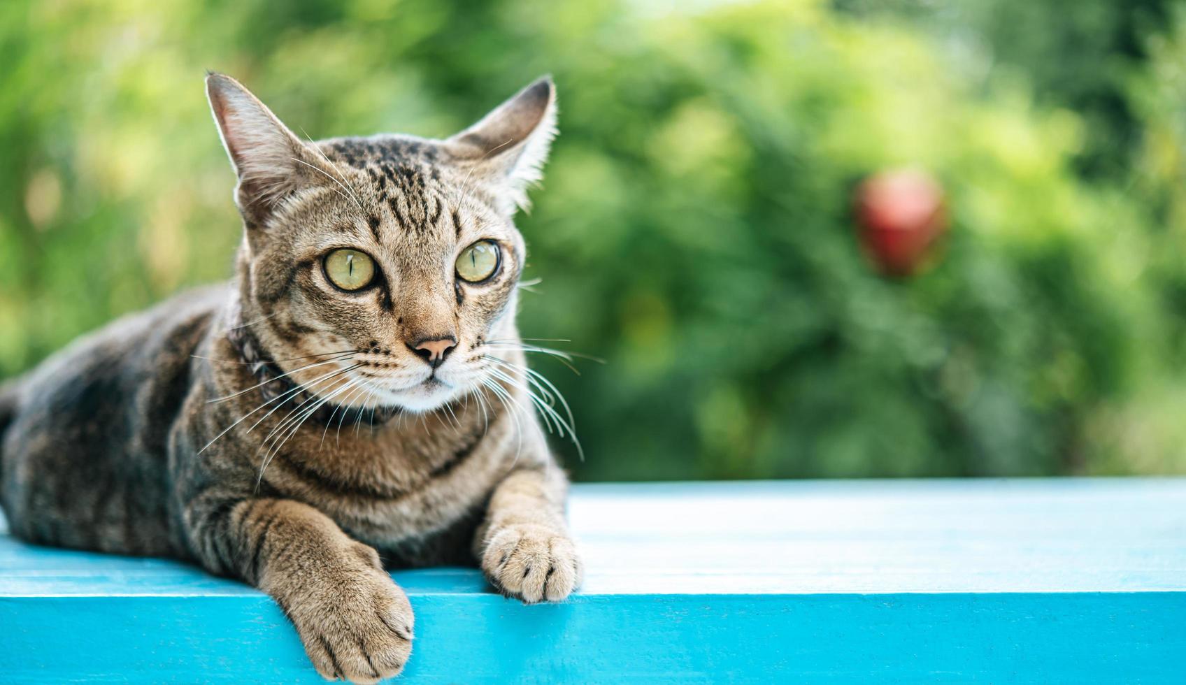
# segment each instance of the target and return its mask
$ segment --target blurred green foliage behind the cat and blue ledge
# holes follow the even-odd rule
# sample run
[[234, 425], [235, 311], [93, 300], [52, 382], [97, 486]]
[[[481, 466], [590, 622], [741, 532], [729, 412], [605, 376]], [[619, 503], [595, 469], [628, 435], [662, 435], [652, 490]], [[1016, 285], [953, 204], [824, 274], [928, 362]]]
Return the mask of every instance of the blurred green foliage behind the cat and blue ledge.
[[[229, 275], [204, 69], [313, 137], [551, 72], [521, 321], [606, 360], [536, 360], [578, 478], [1186, 472], [1186, 12], [940, 5], [2, 4], [0, 373]], [[952, 229], [891, 281], [850, 197], [900, 166]]]

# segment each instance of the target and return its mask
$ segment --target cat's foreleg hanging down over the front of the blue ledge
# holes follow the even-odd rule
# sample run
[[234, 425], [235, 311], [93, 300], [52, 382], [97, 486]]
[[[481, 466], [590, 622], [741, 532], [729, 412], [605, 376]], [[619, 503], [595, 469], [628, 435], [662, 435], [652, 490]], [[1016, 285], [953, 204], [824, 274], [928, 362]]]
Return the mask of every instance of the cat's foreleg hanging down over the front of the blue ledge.
[[378, 553], [329, 517], [285, 499], [199, 499], [185, 519], [210, 570], [279, 602], [323, 677], [375, 683], [403, 668], [412, 652], [408, 597]]

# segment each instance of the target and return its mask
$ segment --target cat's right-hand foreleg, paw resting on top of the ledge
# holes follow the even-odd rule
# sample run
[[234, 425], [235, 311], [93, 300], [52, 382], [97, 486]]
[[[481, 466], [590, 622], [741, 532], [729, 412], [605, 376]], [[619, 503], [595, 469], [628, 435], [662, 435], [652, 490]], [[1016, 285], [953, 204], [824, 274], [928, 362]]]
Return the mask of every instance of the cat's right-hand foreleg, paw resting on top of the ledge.
[[511, 472], [490, 498], [474, 551], [486, 578], [524, 602], [560, 601], [581, 582], [582, 566], [565, 523], [568, 481], [547, 465]]

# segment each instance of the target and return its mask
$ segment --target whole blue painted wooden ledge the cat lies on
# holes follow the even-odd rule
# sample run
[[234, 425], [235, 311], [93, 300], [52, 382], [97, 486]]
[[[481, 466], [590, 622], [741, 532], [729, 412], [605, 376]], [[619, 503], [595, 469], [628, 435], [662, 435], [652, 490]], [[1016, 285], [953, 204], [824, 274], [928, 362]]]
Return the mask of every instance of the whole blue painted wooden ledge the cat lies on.
[[[426, 683], [1186, 683], [1186, 479], [585, 485], [584, 590], [396, 572]], [[318, 681], [273, 602], [0, 537], [0, 680]]]

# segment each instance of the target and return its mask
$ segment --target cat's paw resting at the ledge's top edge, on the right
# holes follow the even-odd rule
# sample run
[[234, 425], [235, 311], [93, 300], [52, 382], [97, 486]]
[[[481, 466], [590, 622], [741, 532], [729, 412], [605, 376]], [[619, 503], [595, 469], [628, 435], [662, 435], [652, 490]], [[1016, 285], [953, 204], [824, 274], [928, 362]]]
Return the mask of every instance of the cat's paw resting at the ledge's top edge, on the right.
[[482, 556], [482, 570], [503, 594], [528, 603], [563, 600], [580, 585], [582, 574], [566, 533], [531, 524], [496, 531]]

